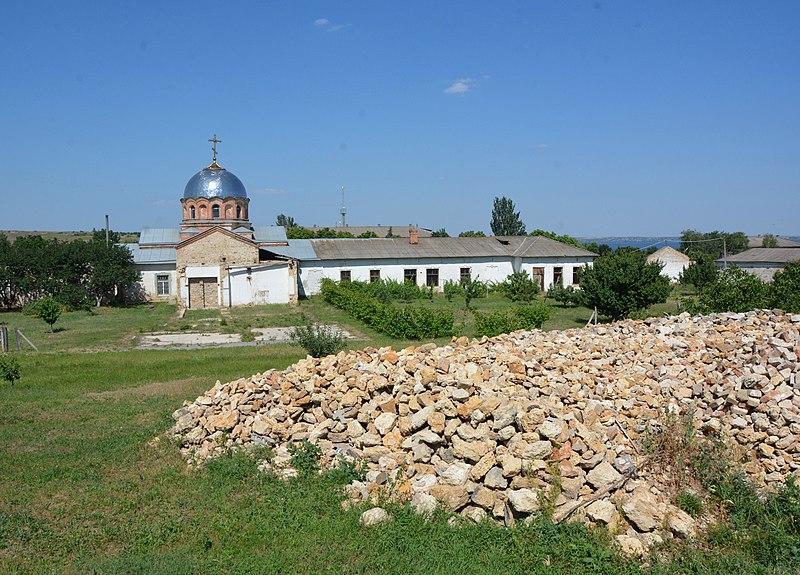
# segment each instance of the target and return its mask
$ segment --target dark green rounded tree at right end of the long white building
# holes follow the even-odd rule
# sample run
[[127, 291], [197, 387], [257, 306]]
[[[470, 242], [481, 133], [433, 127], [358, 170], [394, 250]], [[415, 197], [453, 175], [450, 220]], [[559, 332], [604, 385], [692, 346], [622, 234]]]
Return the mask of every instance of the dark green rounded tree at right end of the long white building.
[[647, 263], [639, 250], [617, 250], [597, 258], [581, 270], [583, 302], [613, 321], [628, 317], [654, 303], [664, 303], [670, 293], [663, 264]]

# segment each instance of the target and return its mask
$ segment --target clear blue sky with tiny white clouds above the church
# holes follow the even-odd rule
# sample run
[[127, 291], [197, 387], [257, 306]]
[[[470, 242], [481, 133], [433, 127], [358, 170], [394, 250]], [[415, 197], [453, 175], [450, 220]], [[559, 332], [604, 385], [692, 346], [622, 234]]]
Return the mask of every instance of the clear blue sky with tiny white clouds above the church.
[[251, 219], [576, 236], [800, 235], [796, 1], [29, 2], [4, 7], [0, 229]]

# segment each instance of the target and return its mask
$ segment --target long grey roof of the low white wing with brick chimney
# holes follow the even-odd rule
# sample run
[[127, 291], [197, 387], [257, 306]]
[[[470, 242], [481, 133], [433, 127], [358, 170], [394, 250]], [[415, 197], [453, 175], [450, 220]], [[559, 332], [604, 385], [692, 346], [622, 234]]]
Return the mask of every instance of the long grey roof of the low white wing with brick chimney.
[[310, 240], [321, 260], [521, 257], [592, 257], [596, 254], [542, 236]]

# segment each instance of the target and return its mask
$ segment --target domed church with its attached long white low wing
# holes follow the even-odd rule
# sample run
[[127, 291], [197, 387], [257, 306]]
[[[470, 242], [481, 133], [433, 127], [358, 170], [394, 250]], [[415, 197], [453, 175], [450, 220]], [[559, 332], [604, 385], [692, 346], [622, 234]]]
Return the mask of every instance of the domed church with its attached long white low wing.
[[592, 252], [540, 236], [407, 237], [287, 240], [281, 226], [253, 226], [241, 180], [217, 163], [192, 176], [181, 222], [144, 228], [130, 246], [147, 298], [190, 309], [292, 303], [335, 281], [392, 279], [441, 291], [445, 282], [503, 281], [524, 271], [541, 289], [580, 283]]

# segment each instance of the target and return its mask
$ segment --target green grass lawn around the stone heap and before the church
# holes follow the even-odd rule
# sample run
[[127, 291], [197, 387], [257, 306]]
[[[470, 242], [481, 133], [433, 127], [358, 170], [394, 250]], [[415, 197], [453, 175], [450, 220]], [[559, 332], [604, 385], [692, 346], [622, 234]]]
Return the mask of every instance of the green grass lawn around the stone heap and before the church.
[[[560, 321], [577, 324], [585, 313], [569, 310]], [[294, 322], [297, 314], [365, 338], [352, 345], [407, 343], [319, 300], [234, 310], [231, 319]], [[209, 319], [196, 315], [183, 321]], [[603, 532], [543, 520], [450, 527], [444, 514], [426, 523], [394, 509], [391, 524], [366, 530], [361, 509], [343, 511], [340, 486], [327, 476], [285, 483], [241, 454], [189, 472], [165, 435], [172, 411], [218, 379], [284, 368], [304, 352], [130, 350], [142, 330], [173, 321], [171, 306], [72, 312], [50, 334], [41, 321], [0, 314], [45, 350], [15, 354], [22, 379], [0, 383], [0, 573], [793, 572], [759, 562], [730, 537], [669, 549], [668, 559], [654, 555], [642, 567], [616, 556]]]

